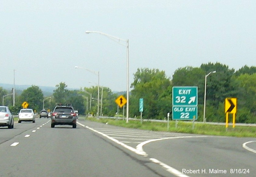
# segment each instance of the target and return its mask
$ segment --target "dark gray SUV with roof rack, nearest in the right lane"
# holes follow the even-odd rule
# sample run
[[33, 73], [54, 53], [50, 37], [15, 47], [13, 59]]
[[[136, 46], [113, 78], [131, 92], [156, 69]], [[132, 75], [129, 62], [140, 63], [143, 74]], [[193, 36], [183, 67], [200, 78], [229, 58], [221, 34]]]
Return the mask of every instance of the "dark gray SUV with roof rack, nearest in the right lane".
[[57, 104], [51, 116], [51, 128], [55, 125], [72, 125], [76, 128], [77, 114], [72, 105]]

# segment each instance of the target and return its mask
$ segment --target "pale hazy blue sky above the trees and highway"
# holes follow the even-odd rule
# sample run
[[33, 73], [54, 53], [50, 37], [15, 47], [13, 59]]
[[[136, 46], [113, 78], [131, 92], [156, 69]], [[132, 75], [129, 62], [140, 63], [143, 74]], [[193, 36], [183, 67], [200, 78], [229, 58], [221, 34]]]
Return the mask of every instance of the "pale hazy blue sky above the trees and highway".
[[202, 63], [256, 66], [255, 9], [254, 0], [1, 0], [0, 83], [79, 89], [97, 86], [99, 72], [100, 86], [126, 91], [127, 40], [129, 85], [141, 68], [171, 79]]

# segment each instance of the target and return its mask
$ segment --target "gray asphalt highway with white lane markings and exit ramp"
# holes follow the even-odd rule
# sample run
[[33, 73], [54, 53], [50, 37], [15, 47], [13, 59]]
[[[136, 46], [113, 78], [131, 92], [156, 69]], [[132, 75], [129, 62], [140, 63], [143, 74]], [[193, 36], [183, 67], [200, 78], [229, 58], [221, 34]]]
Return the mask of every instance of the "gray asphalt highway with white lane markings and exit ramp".
[[[36, 123], [15, 123], [13, 129], [0, 127], [0, 176], [249, 177], [256, 176], [255, 140], [153, 132], [80, 119], [75, 129], [50, 128], [50, 119], [37, 118]], [[239, 169], [244, 174], [238, 174]]]

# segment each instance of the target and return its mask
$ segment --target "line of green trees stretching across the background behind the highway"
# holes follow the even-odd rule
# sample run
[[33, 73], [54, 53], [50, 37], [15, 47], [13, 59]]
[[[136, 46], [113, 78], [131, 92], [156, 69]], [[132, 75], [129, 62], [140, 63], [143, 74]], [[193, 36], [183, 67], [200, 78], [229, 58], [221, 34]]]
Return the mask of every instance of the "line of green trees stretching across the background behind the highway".
[[[224, 100], [227, 97], [237, 98], [237, 118], [240, 123], [256, 123], [256, 67], [243, 66], [235, 71], [221, 63], [205, 63], [200, 67], [186, 66], [175, 70], [172, 78], [166, 76], [165, 71], [149, 68], [138, 68], [133, 74], [129, 95], [129, 117], [139, 117], [139, 98], [144, 98], [143, 118], [164, 119], [167, 113], [172, 114], [172, 87], [198, 87], [198, 121], [203, 121], [205, 75], [215, 71], [207, 77], [206, 92], [206, 121], [225, 122]], [[0, 87], [0, 99], [8, 94]], [[97, 87], [84, 87], [80, 90], [68, 90], [65, 83], [56, 85], [51, 99], [44, 101], [45, 109], [53, 110], [56, 103], [72, 104], [80, 114], [97, 113]], [[102, 95], [102, 99], [101, 99]], [[113, 93], [108, 87], [100, 88], [100, 115], [114, 116], [117, 112], [116, 98], [120, 94]], [[126, 94], [123, 94], [126, 97]], [[23, 90], [16, 95], [15, 106], [12, 97], [5, 97], [5, 105], [9, 105], [13, 112], [21, 108], [26, 101], [29, 107], [40, 111], [45, 99], [38, 86]], [[101, 102], [102, 100], [102, 102]], [[121, 111], [119, 111], [121, 112]], [[124, 111], [125, 112], [125, 111]]]

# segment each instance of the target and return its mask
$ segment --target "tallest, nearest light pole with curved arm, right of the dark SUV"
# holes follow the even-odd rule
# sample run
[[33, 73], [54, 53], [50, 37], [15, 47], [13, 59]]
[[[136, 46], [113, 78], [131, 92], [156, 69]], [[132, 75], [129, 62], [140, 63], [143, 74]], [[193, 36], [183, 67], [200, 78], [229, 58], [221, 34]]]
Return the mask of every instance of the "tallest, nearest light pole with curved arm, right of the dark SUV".
[[126, 103], [126, 123], [128, 123], [128, 118], [129, 118], [129, 39], [120, 39], [118, 37], [115, 36], [111, 36], [109, 34], [103, 33], [103, 32], [99, 32], [99, 31], [86, 31], [87, 34], [89, 33], [99, 33], [102, 34], [104, 36], [108, 36], [111, 37], [113, 39], [117, 39], [119, 41], [124, 41], [126, 42], [126, 49], [127, 49], [127, 103]]

